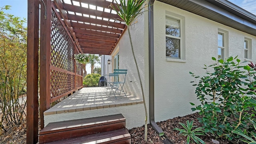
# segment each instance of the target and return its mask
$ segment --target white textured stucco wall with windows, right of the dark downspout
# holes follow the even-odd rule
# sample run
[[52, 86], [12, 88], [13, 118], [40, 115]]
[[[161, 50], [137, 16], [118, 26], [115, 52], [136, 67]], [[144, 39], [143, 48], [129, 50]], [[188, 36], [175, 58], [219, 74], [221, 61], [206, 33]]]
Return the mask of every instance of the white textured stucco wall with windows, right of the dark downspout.
[[[186, 59], [173, 62], [166, 58], [165, 17], [179, 15], [185, 19]], [[256, 61], [256, 37], [192, 14], [162, 2], [154, 2], [154, 71], [155, 120], [164, 121], [192, 113], [189, 102], [198, 103], [194, 81], [189, 72], [202, 76], [204, 64], [212, 64], [218, 57], [218, 29], [228, 31], [228, 56], [244, 61], [244, 37], [252, 39], [252, 60]], [[147, 54], [147, 53], [145, 53]], [[227, 58], [227, 56], [226, 56]], [[147, 71], [147, 70], [146, 70]]]

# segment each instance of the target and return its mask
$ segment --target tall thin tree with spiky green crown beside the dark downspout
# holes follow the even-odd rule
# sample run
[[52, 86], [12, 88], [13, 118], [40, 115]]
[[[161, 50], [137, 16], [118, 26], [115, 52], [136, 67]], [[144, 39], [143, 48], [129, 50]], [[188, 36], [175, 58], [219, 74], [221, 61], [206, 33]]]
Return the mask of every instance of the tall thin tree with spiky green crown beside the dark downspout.
[[136, 60], [136, 57], [135, 57], [135, 54], [134, 54], [134, 50], [133, 50], [132, 37], [131, 37], [131, 34], [130, 34], [130, 26], [133, 24], [132, 22], [136, 18], [138, 18], [138, 16], [140, 14], [143, 13], [142, 10], [147, 6], [144, 3], [146, 3], [146, 0], [127, 0], [127, 4], [126, 4], [126, 0], [120, 0], [120, 5], [117, 4], [117, 2], [116, 2], [116, 4], [115, 4], [116, 6], [114, 6], [113, 4], [110, 4], [110, 6], [120, 16], [121, 19], [117, 19], [117, 20], [122, 21], [122, 22], [124, 22], [127, 25], [128, 34], [129, 34], [129, 38], [130, 38], [130, 44], [131, 44], [131, 48], [132, 48], [132, 55], [133, 55], [134, 62], [135, 62], [136, 68], [137, 68], [138, 77], [139, 77], [139, 80], [140, 80], [140, 87], [141, 87], [141, 91], [142, 91], [142, 97], [143, 97], [143, 101], [144, 101], [144, 108], [145, 108], [144, 140], [147, 141], [147, 134], [148, 134], [148, 128], [147, 128], [148, 112], [147, 112], [147, 107], [146, 107], [146, 102], [145, 102], [145, 96], [144, 96], [142, 81], [141, 81], [141, 78], [140, 78], [140, 72], [139, 72], [137, 60]]

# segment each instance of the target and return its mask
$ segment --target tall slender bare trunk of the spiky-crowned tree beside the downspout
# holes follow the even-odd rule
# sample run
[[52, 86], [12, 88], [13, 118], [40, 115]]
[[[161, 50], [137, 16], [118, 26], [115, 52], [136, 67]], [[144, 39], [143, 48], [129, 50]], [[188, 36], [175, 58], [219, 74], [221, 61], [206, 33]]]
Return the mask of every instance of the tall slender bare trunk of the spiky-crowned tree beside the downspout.
[[141, 81], [141, 78], [140, 78], [140, 71], [139, 71], [139, 67], [138, 67], [137, 60], [135, 58], [135, 54], [134, 54], [134, 50], [133, 50], [132, 37], [131, 37], [131, 33], [130, 33], [130, 27], [127, 26], [127, 29], [128, 29], [128, 34], [129, 34], [131, 48], [132, 48], [132, 55], [133, 55], [133, 58], [134, 58], [134, 62], [135, 62], [136, 69], [137, 69], [138, 76], [139, 76], [139, 80], [140, 80], [140, 87], [141, 87], [142, 98], [143, 98], [143, 102], [144, 102], [144, 108], [145, 108], [145, 134], [144, 134], [144, 140], [147, 141], [147, 136], [148, 136], [148, 111], [147, 111], [147, 107], [146, 107], [146, 101], [145, 101], [142, 81]]

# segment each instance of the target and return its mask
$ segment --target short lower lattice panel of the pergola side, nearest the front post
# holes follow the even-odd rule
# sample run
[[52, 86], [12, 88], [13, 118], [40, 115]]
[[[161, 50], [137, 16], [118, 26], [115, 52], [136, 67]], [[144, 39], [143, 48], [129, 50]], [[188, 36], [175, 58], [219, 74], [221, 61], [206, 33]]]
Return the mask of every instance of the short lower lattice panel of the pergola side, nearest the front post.
[[75, 88], [74, 78], [72, 74], [67, 74], [64, 72], [58, 72], [51, 70], [51, 98], [66, 93], [67, 91], [73, 90]]

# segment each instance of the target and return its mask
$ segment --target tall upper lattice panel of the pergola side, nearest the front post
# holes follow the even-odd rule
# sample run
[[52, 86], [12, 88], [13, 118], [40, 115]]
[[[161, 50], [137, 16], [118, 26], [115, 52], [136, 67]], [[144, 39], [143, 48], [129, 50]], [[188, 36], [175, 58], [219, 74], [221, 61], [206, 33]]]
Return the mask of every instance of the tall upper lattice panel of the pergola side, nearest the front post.
[[51, 65], [74, 72], [74, 43], [53, 10]]

